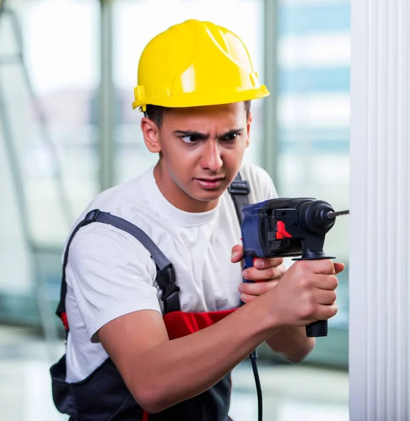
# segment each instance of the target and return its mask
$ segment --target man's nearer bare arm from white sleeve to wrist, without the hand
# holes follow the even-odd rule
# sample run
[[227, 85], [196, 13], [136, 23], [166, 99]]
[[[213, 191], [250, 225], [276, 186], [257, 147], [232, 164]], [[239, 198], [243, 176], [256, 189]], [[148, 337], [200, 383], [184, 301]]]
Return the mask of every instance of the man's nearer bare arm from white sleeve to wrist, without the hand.
[[151, 310], [114, 319], [98, 337], [135, 400], [157, 413], [215, 385], [280, 328], [258, 302], [175, 340], [168, 340], [161, 314]]

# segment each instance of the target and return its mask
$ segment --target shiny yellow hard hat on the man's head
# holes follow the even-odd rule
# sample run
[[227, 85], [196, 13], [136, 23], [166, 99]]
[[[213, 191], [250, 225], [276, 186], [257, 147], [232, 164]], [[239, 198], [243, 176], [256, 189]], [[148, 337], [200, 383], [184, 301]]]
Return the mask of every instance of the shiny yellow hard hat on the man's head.
[[138, 64], [133, 109], [147, 104], [195, 107], [255, 100], [260, 85], [244, 43], [229, 29], [186, 20], [145, 46]]

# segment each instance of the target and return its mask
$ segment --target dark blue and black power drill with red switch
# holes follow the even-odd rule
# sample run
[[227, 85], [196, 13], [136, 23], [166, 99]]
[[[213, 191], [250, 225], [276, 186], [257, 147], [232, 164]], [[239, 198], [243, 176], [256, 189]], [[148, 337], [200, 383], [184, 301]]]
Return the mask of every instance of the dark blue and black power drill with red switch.
[[[334, 259], [323, 251], [324, 237], [338, 215], [326, 201], [300, 197], [278, 198], [242, 208], [242, 245], [244, 269], [253, 266], [254, 258], [284, 258], [292, 260]], [[251, 282], [244, 280], [245, 282]], [[308, 337], [327, 336], [327, 320], [306, 326]]]

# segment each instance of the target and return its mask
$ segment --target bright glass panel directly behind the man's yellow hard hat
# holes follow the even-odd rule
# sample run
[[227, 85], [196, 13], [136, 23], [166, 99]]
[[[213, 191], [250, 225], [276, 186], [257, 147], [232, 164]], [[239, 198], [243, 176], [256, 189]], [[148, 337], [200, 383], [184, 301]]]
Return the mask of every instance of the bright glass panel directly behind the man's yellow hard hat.
[[[161, 13], [157, 13], [157, 11]], [[144, 19], [153, 16], [155, 19]], [[141, 114], [133, 112], [133, 88], [137, 84], [138, 60], [150, 39], [171, 25], [194, 18], [210, 20], [242, 38], [263, 80], [262, 0], [118, 0], [114, 4], [114, 84], [117, 90], [117, 181], [133, 178], [157, 162], [140, 133]], [[252, 104], [251, 145], [245, 161], [260, 163], [262, 102]]]

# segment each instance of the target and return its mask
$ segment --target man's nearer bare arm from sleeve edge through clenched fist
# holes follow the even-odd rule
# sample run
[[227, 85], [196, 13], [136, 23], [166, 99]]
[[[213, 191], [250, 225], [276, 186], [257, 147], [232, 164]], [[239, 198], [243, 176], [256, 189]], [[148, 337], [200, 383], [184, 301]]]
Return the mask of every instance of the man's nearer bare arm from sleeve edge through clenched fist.
[[283, 283], [183, 338], [168, 340], [151, 310], [110, 321], [98, 338], [135, 400], [157, 413], [215, 385], [277, 330], [333, 317], [334, 271], [330, 260], [296, 262]]

